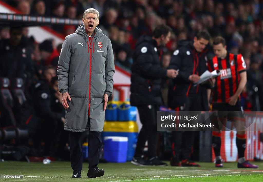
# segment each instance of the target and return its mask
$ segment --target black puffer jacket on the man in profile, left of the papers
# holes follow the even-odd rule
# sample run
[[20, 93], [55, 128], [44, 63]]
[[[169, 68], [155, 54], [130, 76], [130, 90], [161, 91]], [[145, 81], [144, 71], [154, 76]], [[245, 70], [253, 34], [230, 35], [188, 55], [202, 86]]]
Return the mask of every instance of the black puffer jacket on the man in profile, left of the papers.
[[161, 79], [166, 77], [166, 69], [161, 67], [159, 56], [154, 39], [138, 39], [131, 67], [131, 105], [162, 104]]

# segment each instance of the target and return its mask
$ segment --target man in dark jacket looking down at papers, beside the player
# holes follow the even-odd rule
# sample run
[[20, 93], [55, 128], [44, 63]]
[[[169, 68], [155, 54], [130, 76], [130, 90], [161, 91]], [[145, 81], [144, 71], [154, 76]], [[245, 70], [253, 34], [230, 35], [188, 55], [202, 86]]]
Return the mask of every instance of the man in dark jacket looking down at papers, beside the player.
[[[207, 70], [209, 40], [209, 33], [201, 30], [194, 37], [194, 41], [181, 40], [178, 49], [173, 53], [169, 69], [179, 71], [169, 86], [168, 105], [176, 111], [208, 111], [207, 88], [204, 85], [194, 86], [194, 83], [198, 82], [200, 75]], [[200, 167], [190, 160], [194, 134], [193, 131], [172, 132], [173, 157], [170, 161], [172, 166]]]

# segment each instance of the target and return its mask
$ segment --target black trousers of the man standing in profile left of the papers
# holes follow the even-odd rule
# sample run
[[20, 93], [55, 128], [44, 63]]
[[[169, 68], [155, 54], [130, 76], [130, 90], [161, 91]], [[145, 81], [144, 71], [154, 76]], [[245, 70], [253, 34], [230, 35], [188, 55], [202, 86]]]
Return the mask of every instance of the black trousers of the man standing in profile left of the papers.
[[148, 157], [152, 158], [157, 155], [157, 111], [159, 111], [159, 107], [159, 105], [137, 106], [143, 126], [138, 134], [135, 157], [143, 155], [146, 141], [148, 141]]

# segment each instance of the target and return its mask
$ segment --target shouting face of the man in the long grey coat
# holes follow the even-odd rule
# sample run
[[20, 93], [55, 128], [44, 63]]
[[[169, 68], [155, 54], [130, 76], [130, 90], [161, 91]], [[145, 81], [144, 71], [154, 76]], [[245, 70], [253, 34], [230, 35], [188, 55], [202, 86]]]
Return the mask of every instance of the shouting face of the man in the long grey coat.
[[89, 35], [92, 35], [97, 25], [99, 25], [99, 19], [95, 13], [87, 13], [85, 18], [82, 18], [82, 22]]

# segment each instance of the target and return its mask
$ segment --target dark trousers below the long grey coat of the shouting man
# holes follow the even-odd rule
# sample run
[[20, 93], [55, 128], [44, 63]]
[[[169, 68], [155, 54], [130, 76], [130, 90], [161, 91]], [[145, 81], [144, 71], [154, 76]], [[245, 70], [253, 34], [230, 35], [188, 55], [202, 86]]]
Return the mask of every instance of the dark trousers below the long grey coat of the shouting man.
[[[70, 164], [73, 170], [82, 170], [82, 146], [80, 138], [83, 132], [69, 132]], [[95, 168], [99, 163], [99, 152], [102, 148], [101, 132], [89, 132], [89, 169]]]

